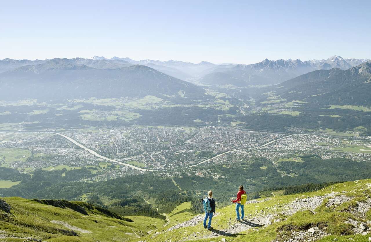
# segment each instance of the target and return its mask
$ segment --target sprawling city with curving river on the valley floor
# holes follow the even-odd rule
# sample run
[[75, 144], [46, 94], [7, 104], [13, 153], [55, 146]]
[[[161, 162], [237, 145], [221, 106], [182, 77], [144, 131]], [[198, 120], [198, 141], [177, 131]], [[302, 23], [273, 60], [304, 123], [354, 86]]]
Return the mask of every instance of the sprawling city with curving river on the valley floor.
[[1, 166], [24, 173], [86, 167], [93, 174], [89, 179], [106, 180], [145, 171], [197, 171], [197, 166], [202, 171], [207, 163], [228, 165], [251, 157], [273, 165], [302, 162], [307, 155], [367, 161], [371, 137], [293, 127], [287, 133], [209, 125], [61, 128], [1, 131], [0, 152]]

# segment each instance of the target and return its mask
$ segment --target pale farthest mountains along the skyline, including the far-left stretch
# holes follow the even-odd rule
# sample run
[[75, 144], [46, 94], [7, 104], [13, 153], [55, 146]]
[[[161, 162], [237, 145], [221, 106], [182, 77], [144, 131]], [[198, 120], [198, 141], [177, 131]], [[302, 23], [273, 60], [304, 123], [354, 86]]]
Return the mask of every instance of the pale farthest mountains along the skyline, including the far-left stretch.
[[[131, 65], [144, 65], [169, 76], [185, 81], [201, 81], [211, 85], [272, 85], [295, 78], [296, 76], [320, 69], [339, 68], [347, 70], [352, 66], [357, 66], [370, 59], [342, 58], [341, 56], [331, 56], [326, 60], [301, 61], [268, 59], [262, 62], [242, 65], [242, 64], [213, 64], [202, 61], [191, 63], [183, 61], [154, 61], [141, 60], [135, 61], [130, 58], [113, 57], [106, 59], [103, 56], [93, 56], [91, 59], [74, 58], [69, 59], [75, 64], [86, 65], [95, 69], [116, 69]], [[11, 71], [25, 65], [38, 65], [49, 60], [0, 60], [0, 73]], [[223, 73], [223, 74], [221, 74]]]

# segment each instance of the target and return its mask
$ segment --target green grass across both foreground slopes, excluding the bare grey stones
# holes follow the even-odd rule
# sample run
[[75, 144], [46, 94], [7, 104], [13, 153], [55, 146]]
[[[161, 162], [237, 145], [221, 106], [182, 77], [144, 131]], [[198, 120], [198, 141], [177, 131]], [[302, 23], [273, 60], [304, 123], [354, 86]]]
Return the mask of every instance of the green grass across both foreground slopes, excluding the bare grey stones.
[[[280, 232], [280, 240], [290, 238], [290, 232], [293, 230], [301, 231], [312, 227], [326, 227], [331, 236], [327, 236], [320, 241], [349, 241], [349, 238], [354, 238], [355, 241], [367, 241], [369, 234], [361, 235], [346, 235], [350, 227], [344, 223], [348, 218], [365, 222], [371, 220], [371, 211], [366, 214], [366, 219], [357, 219], [347, 212], [347, 208], [354, 206], [356, 201], [365, 200], [365, 196], [371, 195], [371, 191], [366, 184], [370, 184], [371, 179], [350, 181], [340, 184], [335, 184], [326, 187], [317, 192], [293, 194], [288, 196], [270, 197], [260, 203], [252, 203], [245, 205], [245, 216], [247, 219], [253, 218], [260, 213], [261, 210], [266, 213], [278, 213], [279, 210], [273, 210], [274, 205], [284, 205], [292, 202], [296, 198], [305, 198], [307, 196], [324, 195], [331, 192], [347, 191], [347, 196], [352, 196], [354, 199], [350, 202], [332, 208], [326, 208], [324, 204], [316, 209], [316, 214], [307, 211], [295, 213], [289, 216], [286, 220], [273, 223], [266, 228], [249, 229], [240, 232], [238, 235], [219, 236], [215, 238], [200, 239], [203, 236], [211, 236], [212, 233], [203, 229], [201, 223], [194, 226], [188, 226], [172, 231], [166, 231], [174, 225], [183, 221], [190, 220], [193, 215], [189, 212], [190, 202], [184, 202], [177, 206], [172, 212], [167, 214], [168, 223], [164, 225], [161, 219], [148, 218], [144, 216], [129, 216], [134, 220], [126, 222], [118, 219], [113, 219], [103, 215], [97, 210], [88, 210], [89, 215], [83, 215], [70, 209], [61, 209], [59, 207], [42, 205], [32, 200], [22, 199], [19, 197], [6, 197], [4, 200], [12, 206], [12, 213], [15, 217], [10, 216], [14, 220], [12, 222], [1, 222], [0, 231], [5, 230], [8, 236], [42, 238], [47, 241], [179, 241], [183, 238], [189, 238], [197, 241], [220, 241], [221, 238], [226, 238], [226, 241], [272, 241], [277, 239], [278, 231]], [[217, 199], [217, 198], [216, 198]], [[263, 200], [263, 199], [259, 199]], [[326, 200], [325, 200], [326, 201]], [[213, 218], [213, 226], [218, 230], [225, 230], [231, 224], [235, 223], [234, 205], [217, 208], [217, 216]], [[251, 214], [251, 216], [250, 216]], [[285, 218], [283, 215], [278, 215], [280, 218]], [[32, 218], [32, 219], [30, 219]], [[6, 218], [0, 219], [6, 221]], [[79, 229], [89, 230], [91, 233], [81, 233], [76, 231], [80, 237], [64, 236], [62, 229], [70, 230], [66, 227], [54, 223], [50, 220], [59, 220], [67, 222], [69, 225], [76, 226]], [[98, 223], [94, 222], [98, 220]], [[156, 234], [154, 235], [154, 233]], [[194, 236], [197, 233], [197, 237]], [[147, 235], [149, 233], [150, 235]], [[340, 236], [345, 234], [344, 236]], [[286, 236], [286, 237], [285, 237]], [[5, 240], [6, 241], [6, 240]], [[8, 239], [8, 241], [23, 241], [22, 239]]]

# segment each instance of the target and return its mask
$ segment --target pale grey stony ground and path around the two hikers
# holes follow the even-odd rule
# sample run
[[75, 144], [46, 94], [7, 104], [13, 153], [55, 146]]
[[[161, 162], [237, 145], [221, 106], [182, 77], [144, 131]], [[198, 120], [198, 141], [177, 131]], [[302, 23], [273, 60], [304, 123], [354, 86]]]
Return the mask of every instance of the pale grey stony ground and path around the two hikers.
[[[284, 204], [276, 204], [272, 207], [269, 207], [264, 210], [255, 210], [255, 214], [245, 214], [245, 220], [241, 220], [240, 222], [236, 221], [234, 210], [230, 211], [230, 218], [228, 221], [228, 226], [223, 225], [212, 225], [214, 228], [211, 230], [211, 233], [208, 232], [206, 229], [203, 229], [203, 219], [204, 215], [196, 215], [192, 219], [187, 220], [183, 223], [179, 223], [177, 225], [168, 228], [162, 232], [155, 232], [151, 238], [155, 238], [160, 233], [169, 233], [174, 230], [179, 233], [183, 234], [183, 239], [179, 241], [189, 241], [189, 240], [196, 240], [196, 239], [207, 239], [207, 238], [216, 238], [218, 236], [228, 236], [228, 237], [236, 237], [241, 232], [246, 231], [248, 229], [259, 230], [262, 227], [269, 226], [272, 223], [280, 222], [286, 220], [287, 217], [292, 216], [296, 212], [309, 210], [313, 214], [316, 214], [315, 209], [322, 205], [325, 199], [328, 199], [326, 202], [326, 207], [335, 207], [339, 206], [342, 203], [349, 202], [354, 199], [353, 196], [347, 196], [346, 192], [331, 192], [328, 194], [324, 194], [323, 196], [311, 196], [311, 197], [304, 197], [301, 199], [296, 198], [291, 202], [284, 203]], [[263, 200], [250, 200], [246, 203], [246, 205], [253, 204], [253, 203], [262, 203], [265, 201], [269, 201], [271, 198], [266, 198]], [[245, 206], [246, 206], [245, 205]], [[371, 199], [367, 199], [366, 202], [357, 202], [357, 207], [352, 208], [349, 212], [356, 215], [358, 218], [365, 218], [365, 214], [371, 207]], [[246, 209], [245, 209], [246, 210]], [[234, 216], [233, 216], [234, 215]], [[225, 216], [225, 213], [215, 213], [213, 216], [214, 218], [218, 218], [220, 216]], [[286, 218], [285, 218], [286, 217]], [[214, 220], [215, 221], [215, 220]], [[362, 234], [366, 235], [368, 233], [367, 227], [362, 227], [359, 225], [359, 222], [355, 220], [349, 220], [347, 223], [351, 223], [354, 225], [354, 233], [355, 234]], [[187, 233], [184, 232], [187, 227], [190, 226], [199, 226], [199, 230], [194, 230], [195, 232]], [[183, 230], [182, 230], [183, 229]], [[368, 230], [367, 230], [368, 229]], [[326, 233], [324, 228], [310, 228], [308, 231], [292, 231], [292, 237], [287, 241], [293, 242], [303, 242], [303, 241], [316, 241], [318, 239], [324, 238], [329, 234]], [[284, 239], [280, 238], [278, 235], [277, 242], [285, 241]]]

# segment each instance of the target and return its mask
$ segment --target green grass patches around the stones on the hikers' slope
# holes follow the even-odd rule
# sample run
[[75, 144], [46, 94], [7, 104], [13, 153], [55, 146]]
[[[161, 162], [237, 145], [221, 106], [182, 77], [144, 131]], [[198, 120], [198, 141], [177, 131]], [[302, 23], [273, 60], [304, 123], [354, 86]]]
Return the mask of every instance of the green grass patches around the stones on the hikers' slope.
[[[270, 200], [261, 202], [261, 203], [252, 203], [245, 205], [245, 216], [247, 219], [256, 216], [260, 210], [264, 210], [266, 213], [277, 213], [273, 210], [274, 205], [284, 205], [286, 203], [292, 202], [296, 198], [305, 198], [307, 196], [318, 196], [324, 195], [331, 192], [341, 192], [343, 190], [347, 191], [347, 196], [355, 196], [354, 200], [351, 202], [344, 203], [335, 207], [333, 209], [328, 209], [324, 205], [318, 207], [316, 209], [316, 214], [312, 214], [311, 212], [302, 211], [294, 214], [293, 216], [289, 216], [287, 220], [273, 223], [272, 225], [266, 228], [259, 228], [259, 229], [249, 229], [239, 233], [238, 235], [233, 236], [220, 236], [218, 238], [207, 238], [207, 239], [198, 239], [203, 236], [212, 235], [210, 231], [203, 229], [201, 223], [198, 223], [195, 226], [189, 226], [185, 228], [175, 229], [169, 232], [165, 232], [161, 230], [157, 230], [160, 232], [155, 238], [151, 238], [148, 236], [146, 239], [147, 241], [179, 241], [183, 238], [190, 238], [196, 241], [221, 241], [221, 238], [225, 238], [226, 241], [261, 241], [261, 242], [268, 242], [276, 239], [277, 231], [283, 230], [283, 234], [285, 234], [288, 230], [305, 230], [311, 228], [311, 226], [318, 226], [318, 227], [326, 227], [328, 228], [327, 232], [332, 233], [331, 236], [327, 236], [320, 241], [327, 242], [327, 241], [334, 241], [334, 238], [338, 239], [338, 241], [349, 241], [349, 238], [354, 238], [355, 241], [368, 241], [368, 236], [361, 236], [361, 235], [340, 235], [341, 233], [347, 233], [349, 227], [344, 223], [345, 220], [348, 218], [354, 218], [350, 213], [347, 211], [339, 212], [339, 210], [344, 209], [346, 207], [354, 205], [355, 201], [360, 201], [365, 199], [365, 195], [371, 195], [371, 191], [367, 188], [367, 183], [371, 183], [371, 179], [368, 180], [360, 180], [360, 181], [350, 181], [340, 184], [335, 184], [329, 187], [326, 187], [322, 190], [317, 192], [311, 193], [302, 193], [302, 194], [293, 194], [287, 196], [276, 196], [270, 197]], [[361, 190], [362, 189], [362, 190]], [[217, 198], [216, 198], [217, 199]], [[263, 199], [259, 199], [263, 200]], [[221, 209], [217, 209], [218, 215], [213, 218], [213, 225], [214, 229], [224, 230], [228, 228], [231, 224], [229, 222], [234, 222], [235, 220], [235, 212], [234, 206], [227, 206]], [[249, 216], [251, 214], [252, 216]], [[371, 211], [367, 214], [367, 219], [371, 220]], [[366, 220], [367, 220], [366, 219]], [[188, 218], [184, 217], [183, 221], [188, 220]], [[356, 219], [357, 220], [357, 219]], [[365, 222], [364, 220], [359, 220], [358, 222]], [[181, 222], [181, 221], [179, 221]], [[163, 229], [166, 230], [171, 225], [164, 227]], [[286, 228], [286, 229], [285, 229]], [[289, 228], [289, 229], [288, 229]], [[197, 237], [194, 236], [194, 233], [199, 232]], [[281, 234], [282, 236], [282, 234]], [[290, 235], [286, 235], [287, 239], [290, 238]], [[198, 239], [198, 240], [197, 240]], [[282, 241], [285, 240], [285, 237], [280, 237]]]

